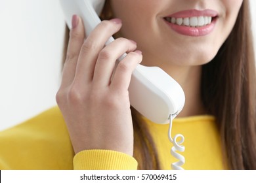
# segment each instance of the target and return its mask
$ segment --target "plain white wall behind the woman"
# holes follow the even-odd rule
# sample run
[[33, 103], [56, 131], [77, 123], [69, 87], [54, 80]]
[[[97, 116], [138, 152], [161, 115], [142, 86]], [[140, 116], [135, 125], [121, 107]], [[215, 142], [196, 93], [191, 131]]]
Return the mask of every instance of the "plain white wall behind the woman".
[[65, 23], [58, 0], [0, 0], [0, 22], [2, 130], [56, 105]]

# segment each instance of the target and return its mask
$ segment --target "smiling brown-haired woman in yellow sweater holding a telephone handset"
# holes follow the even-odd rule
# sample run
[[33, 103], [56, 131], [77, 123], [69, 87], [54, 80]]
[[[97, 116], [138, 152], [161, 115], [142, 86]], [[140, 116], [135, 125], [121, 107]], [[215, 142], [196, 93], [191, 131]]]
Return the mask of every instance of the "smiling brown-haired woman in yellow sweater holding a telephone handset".
[[[56, 95], [61, 114], [53, 108], [2, 132], [11, 148], [1, 140], [0, 166], [170, 169], [177, 159], [169, 154], [168, 125], [130, 108], [131, 73], [141, 63], [161, 67], [184, 90], [186, 103], [173, 122], [173, 133], [186, 138], [184, 169], [256, 169], [249, 17], [247, 0], [107, 0], [105, 21], [85, 39], [86, 27], [74, 15]], [[114, 34], [116, 41], [104, 46]]]

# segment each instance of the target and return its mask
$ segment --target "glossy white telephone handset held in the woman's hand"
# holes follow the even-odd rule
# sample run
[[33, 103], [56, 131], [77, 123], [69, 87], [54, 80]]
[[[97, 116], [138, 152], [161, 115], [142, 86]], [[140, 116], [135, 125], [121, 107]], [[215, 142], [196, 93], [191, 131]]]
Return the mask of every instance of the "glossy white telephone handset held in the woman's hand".
[[[100, 14], [104, 0], [60, 0], [68, 27], [71, 27], [71, 17], [77, 14], [83, 18], [86, 33], [100, 23]], [[114, 41], [111, 37], [106, 44]], [[119, 60], [125, 57], [121, 56]], [[140, 114], [157, 124], [169, 123], [169, 116], [177, 116], [181, 112], [185, 96], [181, 86], [171, 76], [159, 67], [138, 65], [133, 72], [129, 86], [131, 105]]]

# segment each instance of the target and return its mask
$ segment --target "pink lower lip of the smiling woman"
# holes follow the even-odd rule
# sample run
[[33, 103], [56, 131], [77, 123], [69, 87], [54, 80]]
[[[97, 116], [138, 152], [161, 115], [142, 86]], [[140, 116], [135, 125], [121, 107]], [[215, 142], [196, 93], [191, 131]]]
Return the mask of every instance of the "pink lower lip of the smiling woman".
[[171, 29], [173, 29], [175, 32], [181, 34], [181, 35], [187, 35], [187, 36], [193, 36], [193, 37], [200, 37], [204, 35], [208, 35], [213, 31], [215, 24], [216, 24], [216, 18], [211, 22], [211, 24], [202, 26], [202, 27], [188, 27], [184, 25], [177, 25], [177, 24], [171, 24], [170, 22], [167, 22], [164, 20]]

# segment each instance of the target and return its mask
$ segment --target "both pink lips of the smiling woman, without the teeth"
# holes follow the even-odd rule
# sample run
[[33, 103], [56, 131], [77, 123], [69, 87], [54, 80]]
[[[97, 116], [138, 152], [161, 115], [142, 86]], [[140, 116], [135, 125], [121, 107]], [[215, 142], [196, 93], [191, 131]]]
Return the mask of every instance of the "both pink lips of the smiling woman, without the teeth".
[[212, 21], [210, 24], [203, 25], [200, 27], [190, 27], [186, 25], [177, 25], [173, 24], [171, 22], [168, 22], [165, 20], [165, 23], [171, 27], [174, 31], [176, 31], [179, 34], [182, 35], [188, 35], [188, 36], [193, 36], [193, 37], [199, 37], [203, 35], [207, 35], [213, 31], [215, 24], [217, 22], [217, 16], [218, 13], [215, 10], [184, 10], [180, 12], [176, 12], [174, 14], [171, 14], [167, 17], [172, 17], [172, 18], [191, 18], [191, 17], [199, 17], [199, 16], [211, 16]]

